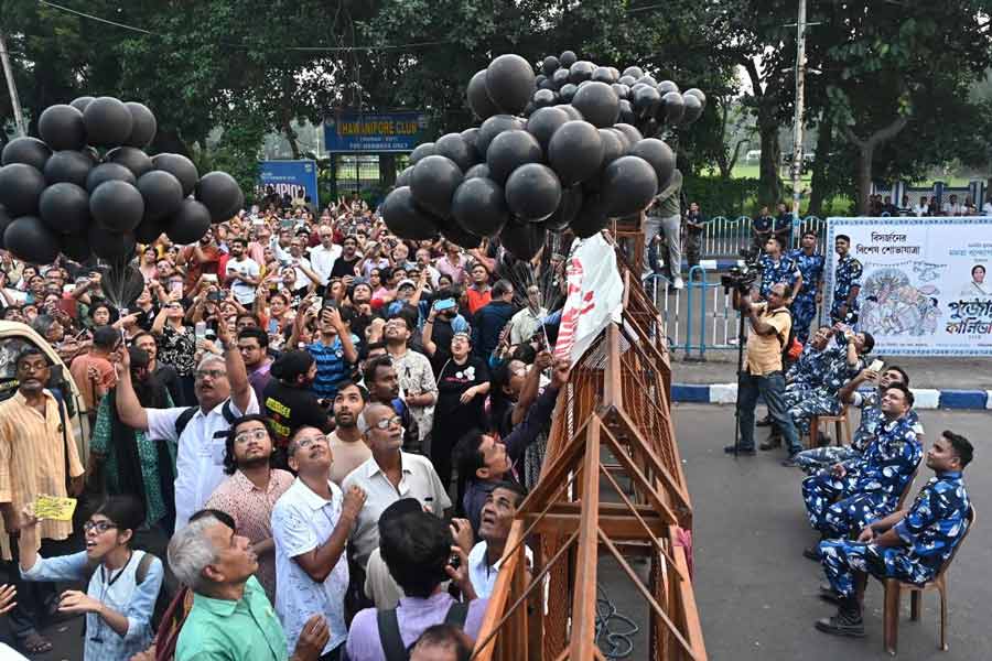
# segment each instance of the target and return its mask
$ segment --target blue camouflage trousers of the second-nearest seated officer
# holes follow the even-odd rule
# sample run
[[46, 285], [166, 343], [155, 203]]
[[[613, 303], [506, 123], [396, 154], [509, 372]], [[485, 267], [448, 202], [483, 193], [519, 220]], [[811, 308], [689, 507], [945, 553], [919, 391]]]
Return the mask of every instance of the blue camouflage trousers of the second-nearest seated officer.
[[853, 486], [853, 477], [838, 478], [826, 470], [802, 480], [802, 500], [806, 502], [809, 524], [827, 539], [845, 538], [852, 532], [860, 532], [878, 518], [878, 497], [852, 494]]

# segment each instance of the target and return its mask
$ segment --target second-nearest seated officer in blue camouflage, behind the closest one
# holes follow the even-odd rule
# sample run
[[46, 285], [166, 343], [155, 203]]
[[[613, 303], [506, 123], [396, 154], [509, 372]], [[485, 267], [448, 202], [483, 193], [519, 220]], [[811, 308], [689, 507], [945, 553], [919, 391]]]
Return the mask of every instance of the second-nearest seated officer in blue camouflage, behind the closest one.
[[[905, 386], [889, 386], [881, 408], [885, 419], [860, 460], [835, 464], [802, 480], [807, 517], [823, 539], [845, 538], [888, 516], [913, 480], [923, 455], [921, 430], [910, 415], [913, 393]], [[807, 549], [804, 555], [819, 560], [819, 550]]]

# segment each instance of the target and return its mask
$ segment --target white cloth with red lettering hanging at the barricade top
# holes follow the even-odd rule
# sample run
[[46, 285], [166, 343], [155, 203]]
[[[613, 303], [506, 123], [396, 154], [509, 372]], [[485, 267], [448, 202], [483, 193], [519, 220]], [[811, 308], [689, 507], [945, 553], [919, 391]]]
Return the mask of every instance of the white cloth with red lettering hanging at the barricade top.
[[622, 321], [624, 281], [616, 269], [616, 252], [599, 232], [575, 249], [565, 272], [569, 293], [554, 357], [574, 365], [607, 324]]

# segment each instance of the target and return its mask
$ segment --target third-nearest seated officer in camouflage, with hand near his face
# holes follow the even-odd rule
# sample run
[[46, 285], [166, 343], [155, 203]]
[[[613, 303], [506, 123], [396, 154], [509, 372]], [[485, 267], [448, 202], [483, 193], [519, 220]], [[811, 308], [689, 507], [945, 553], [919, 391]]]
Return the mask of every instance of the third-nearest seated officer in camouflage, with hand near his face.
[[[870, 393], [862, 394], [858, 388], [865, 382], [877, 382], [878, 388]], [[849, 407], [861, 409], [861, 422], [854, 430], [854, 437], [851, 438], [851, 445], [827, 445], [824, 447], [813, 447], [812, 449], [804, 449], [796, 457], [796, 464], [812, 475], [822, 468], [830, 468], [834, 464], [853, 462], [860, 459], [878, 433], [878, 427], [885, 420], [882, 413], [882, 393], [885, 389], [895, 383], [902, 383], [909, 388], [909, 377], [902, 368], [889, 366], [878, 375], [870, 369], [861, 370], [850, 383], [844, 386], [838, 392], [838, 398]], [[916, 418], [916, 411], [910, 411], [909, 415]], [[921, 429], [921, 427], [920, 427]]]

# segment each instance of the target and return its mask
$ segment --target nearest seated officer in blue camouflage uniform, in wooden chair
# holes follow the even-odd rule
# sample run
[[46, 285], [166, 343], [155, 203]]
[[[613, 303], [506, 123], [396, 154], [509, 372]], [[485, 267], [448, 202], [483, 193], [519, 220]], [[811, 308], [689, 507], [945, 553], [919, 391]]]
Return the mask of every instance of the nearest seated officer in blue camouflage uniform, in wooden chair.
[[917, 585], [937, 575], [968, 530], [971, 503], [962, 472], [973, 452], [967, 438], [944, 432], [927, 452], [927, 466], [935, 475], [908, 510], [869, 523], [858, 541], [820, 543], [830, 582], [821, 590], [838, 602], [839, 609], [835, 616], [817, 621], [817, 629], [864, 636], [861, 600], [866, 574]]

